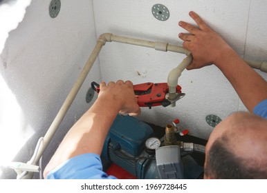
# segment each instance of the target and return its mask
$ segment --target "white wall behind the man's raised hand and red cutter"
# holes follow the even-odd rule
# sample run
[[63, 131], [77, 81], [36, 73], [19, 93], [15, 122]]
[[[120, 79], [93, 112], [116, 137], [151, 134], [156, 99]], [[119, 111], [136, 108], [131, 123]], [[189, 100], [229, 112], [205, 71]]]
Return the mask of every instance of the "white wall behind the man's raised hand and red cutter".
[[[167, 21], [158, 21], [151, 14], [151, 8], [156, 3], [169, 9]], [[188, 15], [190, 10], [194, 10], [241, 57], [267, 61], [267, 2], [264, 0], [95, 0], [93, 6], [98, 36], [111, 32], [182, 45], [178, 33], [185, 30], [178, 26], [178, 21], [194, 23]], [[108, 43], [100, 53], [101, 76], [103, 81], [129, 79], [134, 84], [167, 82], [170, 70], [183, 58], [183, 54]], [[267, 74], [260, 74], [267, 80]], [[213, 128], [206, 123], [205, 116], [216, 114], [225, 119], [232, 112], [246, 110], [228, 80], [214, 66], [185, 70], [178, 83], [186, 96], [176, 103], [175, 108], [142, 108], [140, 119], [165, 127], [178, 117], [181, 119], [181, 128], [187, 128], [194, 136], [208, 139]]]

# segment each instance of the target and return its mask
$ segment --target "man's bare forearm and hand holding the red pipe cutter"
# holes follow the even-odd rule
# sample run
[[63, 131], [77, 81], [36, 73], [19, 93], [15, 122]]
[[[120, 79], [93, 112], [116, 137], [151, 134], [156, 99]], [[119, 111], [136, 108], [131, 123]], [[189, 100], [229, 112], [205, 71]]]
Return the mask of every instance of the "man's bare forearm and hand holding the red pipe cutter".
[[131, 81], [110, 82], [108, 85], [100, 84], [98, 99], [68, 131], [52, 159], [46, 165], [44, 178], [48, 172], [74, 156], [86, 153], [100, 155], [104, 139], [118, 112], [130, 115], [140, 113]]

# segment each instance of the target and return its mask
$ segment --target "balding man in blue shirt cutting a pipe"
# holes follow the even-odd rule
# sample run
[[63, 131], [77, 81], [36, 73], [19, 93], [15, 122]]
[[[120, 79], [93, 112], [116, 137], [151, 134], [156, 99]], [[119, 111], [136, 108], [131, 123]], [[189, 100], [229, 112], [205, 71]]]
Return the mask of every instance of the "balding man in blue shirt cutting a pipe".
[[[199, 28], [179, 22], [190, 32], [179, 34], [184, 48], [194, 57], [187, 70], [213, 63], [250, 111], [232, 114], [210, 135], [205, 179], [267, 179], [267, 83], [196, 13], [190, 12], [190, 16]], [[100, 90], [98, 99], [57, 148], [46, 166], [45, 178], [114, 179], [102, 172], [100, 154], [104, 139], [118, 112], [136, 115], [140, 108], [131, 81], [101, 83]]]

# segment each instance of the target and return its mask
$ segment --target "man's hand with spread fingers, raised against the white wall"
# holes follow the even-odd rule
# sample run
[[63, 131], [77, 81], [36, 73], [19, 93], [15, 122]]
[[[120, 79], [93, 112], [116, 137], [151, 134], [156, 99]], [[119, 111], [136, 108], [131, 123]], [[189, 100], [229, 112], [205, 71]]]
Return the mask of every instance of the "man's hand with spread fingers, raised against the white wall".
[[179, 22], [179, 26], [190, 32], [190, 34], [180, 33], [179, 37], [184, 41], [183, 47], [192, 52], [192, 63], [187, 70], [202, 68], [205, 65], [218, 61], [223, 56], [222, 53], [233, 52], [217, 32], [209, 28], [206, 23], [195, 12], [190, 12], [190, 17], [194, 19], [198, 27], [194, 27], [184, 21]]

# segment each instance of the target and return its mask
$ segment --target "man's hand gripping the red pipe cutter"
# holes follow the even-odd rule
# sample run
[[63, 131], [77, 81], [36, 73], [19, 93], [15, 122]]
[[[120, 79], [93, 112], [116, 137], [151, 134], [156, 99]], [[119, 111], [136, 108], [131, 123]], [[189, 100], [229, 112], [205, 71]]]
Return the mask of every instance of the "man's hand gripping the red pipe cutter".
[[131, 116], [140, 114], [140, 108], [137, 104], [136, 95], [133, 92], [133, 83], [131, 81], [118, 80], [116, 83], [111, 81], [106, 85], [100, 84], [100, 93], [98, 100], [118, 103], [120, 113]]

